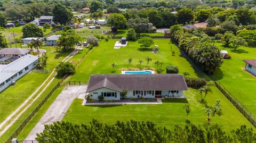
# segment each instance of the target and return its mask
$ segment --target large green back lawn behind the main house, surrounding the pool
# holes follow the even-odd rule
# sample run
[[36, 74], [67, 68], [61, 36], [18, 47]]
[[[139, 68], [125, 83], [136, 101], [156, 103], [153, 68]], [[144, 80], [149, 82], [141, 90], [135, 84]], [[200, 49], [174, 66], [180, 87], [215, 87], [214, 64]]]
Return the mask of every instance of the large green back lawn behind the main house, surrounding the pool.
[[[71, 77], [71, 80], [89, 80], [91, 74], [113, 74], [112, 63], [115, 63], [116, 72], [114, 74], [121, 73], [122, 69], [127, 69], [128, 58], [133, 58], [128, 68], [131, 69], [146, 69], [147, 62], [145, 58], [151, 57], [153, 61], [150, 61], [148, 67], [155, 69], [154, 62], [164, 62], [163, 73], [167, 65], [177, 65], [179, 72], [189, 72], [190, 77], [207, 77], [204, 73], [195, 72], [194, 68], [186, 60], [185, 57], [180, 55], [179, 48], [174, 44], [169, 44], [168, 39], [155, 39], [155, 44], [159, 46], [159, 53], [154, 54], [151, 49], [141, 51], [137, 41], [129, 41], [127, 47], [114, 49], [117, 39], [109, 39], [109, 41], [101, 40], [98, 47], [94, 47], [89, 54], [85, 57], [85, 60], [77, 67], [76, 74]], [[154, 46], [153, 46], [154, 47]], [[172, 56], [172, 51], [175, 55]], [[143, 63], [139, 65], [139, 60], [143, 60]]]

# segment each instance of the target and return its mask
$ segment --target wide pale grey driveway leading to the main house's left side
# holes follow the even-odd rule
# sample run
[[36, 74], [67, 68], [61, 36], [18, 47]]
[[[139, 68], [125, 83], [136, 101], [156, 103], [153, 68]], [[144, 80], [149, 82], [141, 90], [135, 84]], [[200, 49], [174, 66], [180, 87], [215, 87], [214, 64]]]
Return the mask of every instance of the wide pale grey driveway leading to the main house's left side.
[[44, 124], [51, 124], [53, 123], [52, 121], [61, 121], [73, 100], [83, 94], [86, 91], [86, 88], [87, 86], [68, 86], [63, 89], [61, 94], [45, 112], [41, 120], [29, 133], [26, 140], [35, 140], [36, 133], [44, 130]]

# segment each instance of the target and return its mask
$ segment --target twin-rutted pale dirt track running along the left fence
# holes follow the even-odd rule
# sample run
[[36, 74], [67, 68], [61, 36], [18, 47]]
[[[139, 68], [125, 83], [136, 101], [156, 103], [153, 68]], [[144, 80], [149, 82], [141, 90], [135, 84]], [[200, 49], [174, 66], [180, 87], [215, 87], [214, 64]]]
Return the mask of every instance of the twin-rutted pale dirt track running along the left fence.
[[[68, 60], [70, 60], [70, 58], [72, 58], [74, 55], [76, 55], [79, 50], [80, 50], [80, 48], [75, 48], [75, 50], [74, 50], [72, 53], [70, 53], [67, 57], [65, 57], [65, 58], [62, 60], [62, 62], [67, 62]], [[42, 95], [42, 93], [45, 91], [45, 89], [46, 89], [47, 87], [49, 87], [49, 85], [50, 85], [51, 82], [54, 80], [55, 75], [56, 75], [57, 73], [54, 74], [54, 76], [52, 77], [52, 79], [51, 79], [51, 80], [47, 83], [47, 85], [41, 90], [41, 92], [39, 92], [39, 94], [25, 107], [25, 105], [26, 105], [26, 104], [29, 102], [29, 100], [37, 93], [37, 91], [39, 91], [39, 89], [41, 89], [41, 88], [43, 87], [43, 85], [50, 79], [50, 77], [52, 76], [52, 74], [54, 73], [54, 71], [55, 71], [55, 69], [53, 69], [52, 73], [49, 75], [49, 77], [47, 77], [47, 79], [42, 83], [42, 85], [39, 86], [39, 87], [36, 89], [36, 91], [33, 92], [33, 94], [31, 94], [31, 95], [27, 98], [27, 100], [26, 100], [25, 102], [23, 102], [14, 112], [12, 112], [12, 114], [10, 114], [10, 115], [0, 124], [0, 130], [1, 130], [0, 136], [2, 136], [2, 135], [5, 133], [5, 131], [7, 131], [7, 130], [11, 127], [11, 125], [15, 123], [15, 122], [9, 122], [9, 121], [14, 117], [14, 115], [16, 115], [17, 113], [19, 113], [18, 115], [15, 116], [15, 118], [14, 118], [12, 121], [18, 120], [19, 117], [35, 102], [35, 100], [37, 100], [37, 98], [39, 98], [39, 97]], [[25, 107], [25, 108], [23, 108], [23, 107]], [[23, 110], [22, 110], [21, 112], [19, 112], [19, 111], [21, 110], [21, 108], [23, 108]], [[7, 124], [7, 125], [5, 126], [4, 129], [2, 129], [5, 124]]]

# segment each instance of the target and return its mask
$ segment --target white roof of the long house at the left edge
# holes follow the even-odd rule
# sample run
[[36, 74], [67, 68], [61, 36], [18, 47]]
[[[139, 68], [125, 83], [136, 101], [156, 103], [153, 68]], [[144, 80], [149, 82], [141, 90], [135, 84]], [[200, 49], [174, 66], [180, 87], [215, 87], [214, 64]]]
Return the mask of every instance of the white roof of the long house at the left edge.
[[5, 66], [0, 66], [0, 83], [4, 82], [5, 80], [11, 78], [14, 74], [18, 73], [22, 69], [26, 68], [26, 66], [34, 63], [38, 59], [37, 56], [33, 55], [26, 55], [23, 57], [18, 58], [14, 62], [7, 64]]

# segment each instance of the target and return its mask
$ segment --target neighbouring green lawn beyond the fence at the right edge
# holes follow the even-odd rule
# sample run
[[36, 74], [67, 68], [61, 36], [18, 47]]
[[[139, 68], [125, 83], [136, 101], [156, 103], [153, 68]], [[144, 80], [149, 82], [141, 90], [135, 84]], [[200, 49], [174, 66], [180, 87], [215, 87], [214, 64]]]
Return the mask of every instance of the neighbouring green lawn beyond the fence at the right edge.
[[217, 78], [250, 112], [256, 115], [256, 78], [244, 71], [246, 59], [256, 58], [256, 48], [232, 46], [224, 47], [216, 43], [221, 50], [227, 50], [231, 60], [224, 60], [220, 70], [212, 78]]

